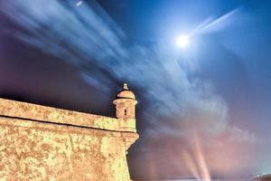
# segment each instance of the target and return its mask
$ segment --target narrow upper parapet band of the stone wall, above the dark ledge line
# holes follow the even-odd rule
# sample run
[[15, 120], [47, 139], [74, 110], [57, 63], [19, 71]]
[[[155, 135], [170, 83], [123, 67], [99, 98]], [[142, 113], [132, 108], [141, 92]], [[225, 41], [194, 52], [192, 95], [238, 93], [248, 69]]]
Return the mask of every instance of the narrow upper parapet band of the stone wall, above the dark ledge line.
[[98, 116], [71, 110], [61, 110], [31, 103], [0, 98], [0, 115], [50, 121], [54, 123], [79, 125], [82, 127], [118, 130], [119, 121], [114, 118]]

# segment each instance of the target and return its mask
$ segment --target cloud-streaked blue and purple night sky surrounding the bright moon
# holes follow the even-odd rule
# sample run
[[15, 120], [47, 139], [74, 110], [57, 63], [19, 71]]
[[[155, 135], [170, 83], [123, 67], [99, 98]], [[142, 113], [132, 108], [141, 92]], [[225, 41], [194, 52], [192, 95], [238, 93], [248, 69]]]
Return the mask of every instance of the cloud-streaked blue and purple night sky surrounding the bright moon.
[[[115, 117], [132, 177], [271, 173], [271, 1], [0, 0], [0, 97]], [[190, 44], [176, 45], [189, 34]]]

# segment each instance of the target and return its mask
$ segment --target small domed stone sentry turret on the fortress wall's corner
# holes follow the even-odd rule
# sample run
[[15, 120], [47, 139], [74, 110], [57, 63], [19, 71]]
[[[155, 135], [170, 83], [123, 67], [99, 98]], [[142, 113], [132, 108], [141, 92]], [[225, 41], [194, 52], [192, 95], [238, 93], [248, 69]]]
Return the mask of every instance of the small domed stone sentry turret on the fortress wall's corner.
[[123, 89], [117, 93], [116, 100], [113, 104], [116, 106], [116, 117], [119, 119], [119, 129], [123, 131], [133, 131], [135, 129], [135, 94], [128, 89], [126, 83]]

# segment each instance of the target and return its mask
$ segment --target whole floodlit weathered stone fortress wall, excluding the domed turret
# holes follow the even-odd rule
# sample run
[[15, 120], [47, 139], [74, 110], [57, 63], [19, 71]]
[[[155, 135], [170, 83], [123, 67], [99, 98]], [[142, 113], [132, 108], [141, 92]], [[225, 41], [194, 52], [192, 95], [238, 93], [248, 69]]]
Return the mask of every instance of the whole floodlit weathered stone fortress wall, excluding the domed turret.
[[0, 99], [0, 180], [130, 180], [119, 120]]

